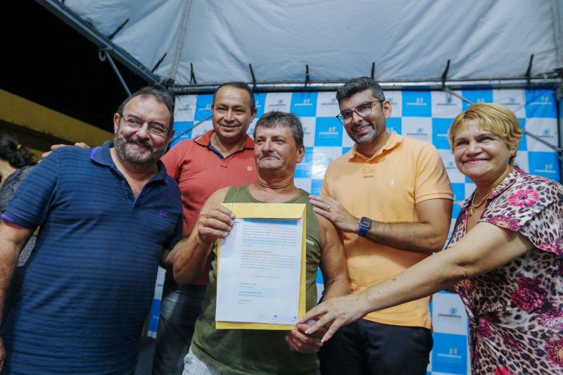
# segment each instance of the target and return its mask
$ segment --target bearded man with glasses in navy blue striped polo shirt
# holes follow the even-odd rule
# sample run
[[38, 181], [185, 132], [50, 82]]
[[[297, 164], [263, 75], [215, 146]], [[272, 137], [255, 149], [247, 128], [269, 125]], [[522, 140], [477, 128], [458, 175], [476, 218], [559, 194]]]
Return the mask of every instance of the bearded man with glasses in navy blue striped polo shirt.
[[113, 144], [61, 148], [21, 184], [0, 223], [0, 311], [41, 230], [1, 333], [4, 374], [134, 371], [158, 262], [182, 235], [179, 188], [159, 161], [172, 117], [165, 91], [141, 89], [115, 113]]

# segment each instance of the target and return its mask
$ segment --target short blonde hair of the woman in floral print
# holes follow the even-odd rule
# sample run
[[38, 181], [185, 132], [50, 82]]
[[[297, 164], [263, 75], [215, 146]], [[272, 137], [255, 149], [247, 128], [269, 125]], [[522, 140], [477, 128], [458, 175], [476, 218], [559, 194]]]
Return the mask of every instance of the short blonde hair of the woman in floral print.
[[[457, 115], [453, 120], [448, 131], [448, 139], [450, 140], [452, 150], [455, 136], [460, 132], [466, 120], [476, 120], [481, 129], [499, 136], [508, 148], [514, 148], [514, 150], [518, 148], [522, 136], [522, 128], [512, 110], [496, 103], [476, 103]], [[510, 164], [514, 163], [514, 158], [516, 158], [516, 152], [511, 156]]]

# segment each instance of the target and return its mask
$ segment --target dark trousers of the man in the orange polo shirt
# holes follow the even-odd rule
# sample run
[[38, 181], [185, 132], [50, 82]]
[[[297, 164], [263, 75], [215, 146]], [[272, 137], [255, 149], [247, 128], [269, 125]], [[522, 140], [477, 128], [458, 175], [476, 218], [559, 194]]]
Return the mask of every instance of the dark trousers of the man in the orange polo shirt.
[[425, 375], [433, 343], [429, 329], [360, 319], [324, 343], [321, 374]]

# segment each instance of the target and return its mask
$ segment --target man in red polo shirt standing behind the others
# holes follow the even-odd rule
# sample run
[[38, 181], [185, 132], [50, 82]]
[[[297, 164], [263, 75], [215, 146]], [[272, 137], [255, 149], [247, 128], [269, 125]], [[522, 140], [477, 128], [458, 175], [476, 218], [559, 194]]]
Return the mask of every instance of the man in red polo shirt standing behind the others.
[[[222, 84], [213, 96], [213, 129], [179, 142], [162, 161], [176, 179], [184, 206], [183, 236], [194, 229], [207, 198], [225, 186], [255, 182], [254, 141], [246, 135], [256, 115], [251, 88], [243, 82]], [[194, 285], [177, 286], [167, 274], [156, 336], [153, 374], [182, 374], [196, 318], [208, 284], [209, 262]]]

